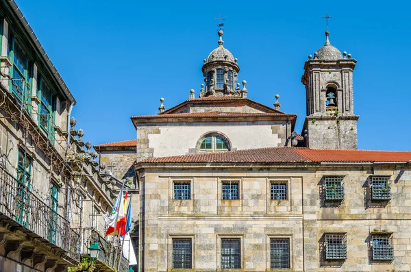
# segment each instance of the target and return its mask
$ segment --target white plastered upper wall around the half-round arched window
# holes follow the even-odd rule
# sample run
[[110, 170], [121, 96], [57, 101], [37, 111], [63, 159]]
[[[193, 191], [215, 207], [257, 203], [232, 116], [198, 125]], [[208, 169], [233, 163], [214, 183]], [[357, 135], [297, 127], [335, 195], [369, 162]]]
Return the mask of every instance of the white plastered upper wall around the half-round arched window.
[[290, 136], [291, 125], [286, 121], [139, 124], [137, 160], [197, 153], [198, 141], [208, 132], [227, 136], [232, 150], [281, 147]]

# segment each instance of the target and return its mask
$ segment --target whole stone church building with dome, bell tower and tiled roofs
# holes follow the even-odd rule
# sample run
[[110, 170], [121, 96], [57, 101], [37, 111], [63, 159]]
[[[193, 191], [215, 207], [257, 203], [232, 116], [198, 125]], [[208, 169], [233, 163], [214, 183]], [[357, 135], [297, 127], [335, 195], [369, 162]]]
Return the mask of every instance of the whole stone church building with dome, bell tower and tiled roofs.
[[411, 152], [357, 149], [357, 61], [325, 33], [301, 129], [278, 96], [248, 98], [218, 34], [199, 95], [161, 99], [132, 116], [136, 139], [95, 146], [134, 178], [135, 271], [410, 271]]

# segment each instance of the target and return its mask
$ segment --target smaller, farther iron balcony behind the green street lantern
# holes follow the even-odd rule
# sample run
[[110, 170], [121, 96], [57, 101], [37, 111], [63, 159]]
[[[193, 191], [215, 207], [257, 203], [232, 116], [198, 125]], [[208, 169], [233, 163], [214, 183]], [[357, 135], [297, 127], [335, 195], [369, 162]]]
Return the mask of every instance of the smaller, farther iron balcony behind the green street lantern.
[[[129, 260], [123, 257], [123, 253], [120, 253], [120, 247], [115, 247], [112, 243], [108, 242], [95, 230], [88, 229], [84, 230], [84, 251], [92, 245], [92, 243], [97, 242], [101, 252], [96, 260], [96, 267], [99, 271], [119, 271], [128, 272], [129, 271]], [[119, 258], [121, 256], [121, 258]], [[119, 263], [120, 262], [120, 263]], [[119, 270], [117, 270], [119, 267]]]

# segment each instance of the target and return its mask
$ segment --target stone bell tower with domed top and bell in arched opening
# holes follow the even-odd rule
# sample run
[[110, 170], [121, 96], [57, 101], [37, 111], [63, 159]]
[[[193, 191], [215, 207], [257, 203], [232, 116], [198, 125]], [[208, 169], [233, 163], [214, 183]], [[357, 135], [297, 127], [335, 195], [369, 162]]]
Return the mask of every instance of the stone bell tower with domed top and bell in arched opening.
[[302, 135], [307, 147], [357, 149], [357, 121], [353, 108], [353, 70], [357, 60], [329, 42], [304, 64], [307, 116]]

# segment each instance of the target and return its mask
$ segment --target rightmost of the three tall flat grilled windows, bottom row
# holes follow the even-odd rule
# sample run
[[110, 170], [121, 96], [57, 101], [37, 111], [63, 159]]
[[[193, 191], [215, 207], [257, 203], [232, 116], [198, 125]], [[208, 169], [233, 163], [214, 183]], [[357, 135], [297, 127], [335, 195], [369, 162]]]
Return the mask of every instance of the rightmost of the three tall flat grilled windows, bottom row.
[[290, 268], [290, 239], [270, 239], [270, 267], [271, 269]]

